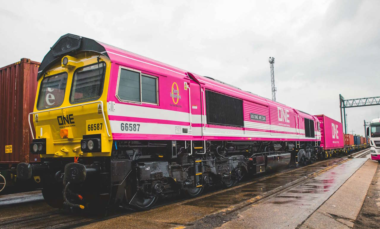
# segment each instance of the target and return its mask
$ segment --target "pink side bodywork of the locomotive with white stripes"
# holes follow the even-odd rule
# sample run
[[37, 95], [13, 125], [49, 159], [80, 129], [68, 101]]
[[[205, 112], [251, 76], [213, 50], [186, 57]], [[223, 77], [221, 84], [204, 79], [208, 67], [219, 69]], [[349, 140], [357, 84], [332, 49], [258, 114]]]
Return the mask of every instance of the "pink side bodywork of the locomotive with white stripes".
[[[100, 44], [105, 47], [112, 62], [107, 102], [115, 103], [115, 111], [108, 111], [114, 139], [316, 141], [316, 138], [306, 138], [304, 131], [303, 119], [314, 120], [312, 115], [207, 77]], [[116, 88], [120, 67], [157, 77], [158, 105], [119, 101]], [[179, 99], [171, 97], [173, 88], [178, 90]], [[244, 127], [205, 123], [206, 90], [242, 99]], [[252, 119], [251, 113], [263, 115], [266, 120]], [[140, 131], [123, 132], [120, 123], [138, 123]]]

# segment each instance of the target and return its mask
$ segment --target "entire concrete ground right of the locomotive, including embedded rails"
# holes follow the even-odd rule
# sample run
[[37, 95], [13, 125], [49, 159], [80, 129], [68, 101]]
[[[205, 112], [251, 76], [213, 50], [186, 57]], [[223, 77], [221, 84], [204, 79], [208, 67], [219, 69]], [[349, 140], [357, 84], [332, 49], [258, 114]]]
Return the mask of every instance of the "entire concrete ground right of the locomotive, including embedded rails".
[[[323, 166], [333, 164], [325, 170], [322, 163], [325, 163]], [[367, 158], [324, 161], [230, 190], [85, 227], [352, 228], [358, 224], [355, 220], [364, 199], [367, 199], [367, 190], [377, 166], [377, 162]], [[312, 172], [317, 169], [322, 170]], [[380, 178], [380, 174], [378, 176]], [[285, 186], [279, 184], [284, 177], [288, 179]], [[271, 193], [270, 190], [276, 189]], [[380, 209], [380, 183], [377, 191], [375, 205]], [[380, 220], [380, 211], [377, 218]]]

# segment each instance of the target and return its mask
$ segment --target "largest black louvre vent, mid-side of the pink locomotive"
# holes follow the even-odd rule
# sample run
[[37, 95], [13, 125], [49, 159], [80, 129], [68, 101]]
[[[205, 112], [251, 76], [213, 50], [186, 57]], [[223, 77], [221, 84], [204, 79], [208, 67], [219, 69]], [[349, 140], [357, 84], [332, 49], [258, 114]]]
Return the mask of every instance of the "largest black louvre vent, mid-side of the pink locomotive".
[[243, 101], [206, 90], [207, 123], [223, 126], [244, 126]]

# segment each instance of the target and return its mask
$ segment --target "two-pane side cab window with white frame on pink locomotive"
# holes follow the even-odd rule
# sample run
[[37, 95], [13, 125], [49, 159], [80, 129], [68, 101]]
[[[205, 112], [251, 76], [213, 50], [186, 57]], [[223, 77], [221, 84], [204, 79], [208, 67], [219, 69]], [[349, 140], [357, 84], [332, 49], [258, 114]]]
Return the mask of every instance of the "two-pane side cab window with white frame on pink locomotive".
[[120, 68], [116, 96], [120, 101], [158, 104], [157, 77]]

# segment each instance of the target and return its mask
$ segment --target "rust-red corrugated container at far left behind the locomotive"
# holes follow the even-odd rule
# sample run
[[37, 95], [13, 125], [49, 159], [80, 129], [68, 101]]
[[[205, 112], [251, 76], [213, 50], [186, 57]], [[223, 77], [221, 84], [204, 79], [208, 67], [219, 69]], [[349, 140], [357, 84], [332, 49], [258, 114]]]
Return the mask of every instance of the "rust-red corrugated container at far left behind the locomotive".
[[[28, 114], [33, 112], [39, 62], [22, 58], [0, 68], [0, 164], [40, 161], [30, 153]], [[11, 146], [11, 147], [9, 147]]]

